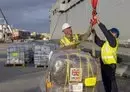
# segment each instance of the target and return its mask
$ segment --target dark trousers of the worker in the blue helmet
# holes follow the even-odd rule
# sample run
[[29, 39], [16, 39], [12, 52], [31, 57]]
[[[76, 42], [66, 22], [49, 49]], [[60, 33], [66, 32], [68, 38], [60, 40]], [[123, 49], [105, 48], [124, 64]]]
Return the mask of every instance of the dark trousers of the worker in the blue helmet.
[[118, 92], [116, 83], [116, 64], [105, 65], [101, 63], [103, 84], [106, 92]]

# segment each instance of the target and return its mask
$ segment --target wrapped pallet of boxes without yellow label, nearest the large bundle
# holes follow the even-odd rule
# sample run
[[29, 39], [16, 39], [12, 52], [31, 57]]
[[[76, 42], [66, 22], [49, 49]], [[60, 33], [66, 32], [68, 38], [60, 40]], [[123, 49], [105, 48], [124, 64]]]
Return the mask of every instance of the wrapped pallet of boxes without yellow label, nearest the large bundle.
[[35, 45], [34, 49], [34, 65], [35, 67], [48, 67], [48, 62], [54, 50], [58, 48], [57, 44], [44, 43], [43, 45]]

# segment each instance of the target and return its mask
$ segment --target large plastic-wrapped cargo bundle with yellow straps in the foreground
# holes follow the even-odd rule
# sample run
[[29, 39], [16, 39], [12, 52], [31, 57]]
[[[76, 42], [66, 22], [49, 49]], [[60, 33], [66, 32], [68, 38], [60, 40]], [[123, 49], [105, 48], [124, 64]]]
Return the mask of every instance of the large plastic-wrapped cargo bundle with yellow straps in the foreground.
[[80, 50], [53, 52], [42, 92], [104, 92], [99, 60]]

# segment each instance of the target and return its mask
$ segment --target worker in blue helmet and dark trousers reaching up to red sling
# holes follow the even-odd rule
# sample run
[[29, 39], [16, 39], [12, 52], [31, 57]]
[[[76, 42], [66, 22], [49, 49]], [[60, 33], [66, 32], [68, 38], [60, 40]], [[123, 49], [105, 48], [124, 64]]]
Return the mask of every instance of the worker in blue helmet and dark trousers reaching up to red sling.
[[118, 37], [119, 30], [117, 28], [112, 28], [107, 30], [106, 26], [99, 21], [99, 18], [95, 16], [99, 28], [102, 30], [106, 37], [106, 41], [101, 40], [95, 30], [95, 43], [101, 47], [101, 72], [102, 79], [106, 92], [118, 92], [116, 83], [116, 64], [117, 64], [117, 50], [118, 50]]

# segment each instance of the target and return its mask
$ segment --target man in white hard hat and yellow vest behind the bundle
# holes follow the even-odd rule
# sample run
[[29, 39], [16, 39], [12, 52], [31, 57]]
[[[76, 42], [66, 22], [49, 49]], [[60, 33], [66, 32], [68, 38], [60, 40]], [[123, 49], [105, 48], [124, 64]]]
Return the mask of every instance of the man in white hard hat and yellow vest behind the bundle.
[[84, 34], [73, 34], [70, 24], [64, 23], [62, 26], [62, 32], [64, 32], [63, 38], [60, 39], [60, 47], [62, 49], [75, 49], [79, 45], [80, 41], [88, 39], [91, 34], [91, 25], [89, 30]]

